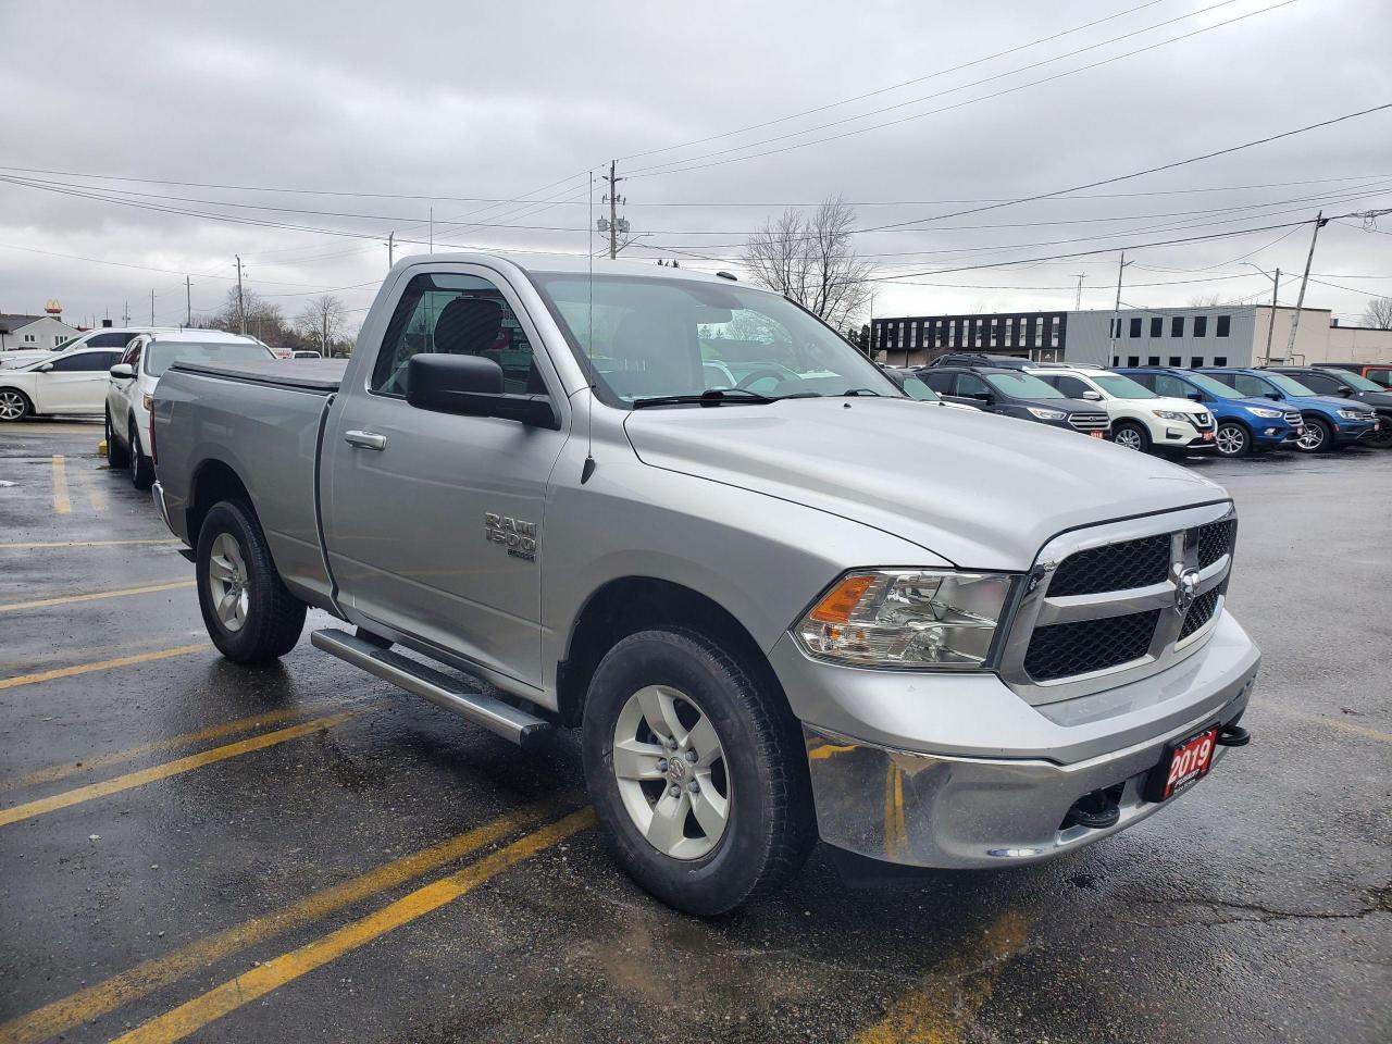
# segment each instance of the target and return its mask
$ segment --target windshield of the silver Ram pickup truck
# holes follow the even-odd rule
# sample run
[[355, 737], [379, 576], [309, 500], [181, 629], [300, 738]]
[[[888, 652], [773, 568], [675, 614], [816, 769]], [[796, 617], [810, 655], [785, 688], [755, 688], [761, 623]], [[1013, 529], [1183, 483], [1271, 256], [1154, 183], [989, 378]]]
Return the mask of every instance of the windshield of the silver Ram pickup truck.
[[580, 273], [532, 278], [610, 405], [715, 388], [754, 393], [724, 402], [903, 394], [830, 327], [773, 294], [640, 276], [596, 276], [593, 287]]

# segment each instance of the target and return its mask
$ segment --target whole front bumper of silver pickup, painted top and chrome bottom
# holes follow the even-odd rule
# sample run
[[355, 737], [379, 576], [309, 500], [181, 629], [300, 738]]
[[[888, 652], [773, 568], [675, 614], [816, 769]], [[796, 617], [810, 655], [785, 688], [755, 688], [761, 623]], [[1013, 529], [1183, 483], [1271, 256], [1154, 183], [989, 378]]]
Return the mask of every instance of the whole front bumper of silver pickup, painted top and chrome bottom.
[[[988, 706], [960, 706], [970, 700], [959, 685], [967, 679], [948, 675], [901, 681], [899, 706], [888, 714], [874, 713], [857, 693], [851, 702], [876, 718], [863, 722], [862, 735], [876, 739], [855, 738], [845, 721], [828, 728], [803, 717], [818, 832], [862, 856], [927, 867], [1033, 863], [1091, 844], [1162, 807], [1146, 800], [1143, 789], [1165, 743], [1210, 722], [1236, 722], [1258, 664], [1256, 647], [1224, 614], [1208, 647], [1182, 664], [1063, 703], [1030, 706], [983, 675], [976, 678], [994, 681], [1002, 695]], [[955, 713], [935, 713], [928, 695], [935, 688], [958, 704]], [[977, 695], [986, 695], [984, 686]], [[913, 718], [920, 728], [894, 742], [874, 725], [905, 720], [903, 696], [919, 704]], [[1218, 748], [1215, 764], [1224, 753]], [[1075, 802], [1116, 786], [1115, 824], [1063, 827]]]

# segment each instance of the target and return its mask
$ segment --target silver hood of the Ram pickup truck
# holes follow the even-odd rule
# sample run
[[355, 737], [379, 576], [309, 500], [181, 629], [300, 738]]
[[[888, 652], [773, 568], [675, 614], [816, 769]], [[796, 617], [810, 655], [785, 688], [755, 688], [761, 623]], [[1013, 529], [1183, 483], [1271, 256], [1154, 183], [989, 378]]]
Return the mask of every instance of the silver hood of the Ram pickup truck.
[[1026, 569], [1065, 529], [1228, 498], [1100, 438], [899, 398], [638, 409], [624, 427], [654, 468], [806, 504], [963, 568]]

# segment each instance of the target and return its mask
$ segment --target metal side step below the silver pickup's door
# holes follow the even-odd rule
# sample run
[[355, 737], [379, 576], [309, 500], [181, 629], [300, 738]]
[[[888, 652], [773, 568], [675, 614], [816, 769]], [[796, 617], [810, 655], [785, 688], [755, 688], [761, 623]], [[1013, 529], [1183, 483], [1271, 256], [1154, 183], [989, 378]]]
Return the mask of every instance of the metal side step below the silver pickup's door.
[[315, 649], [322, 649], [354, 667], [391, 682], [445, 710], [452, 710], [476, 725], [483, 725], [504, 739], [522, 748], [533, 746], [551, 732], [551, 722], [496, 700], [461, 688], [459, 682], [441, 671], [416, 663], [400, 653], [380, 649], [372, 642], [347, 631], [316, 631], [309, 636]]

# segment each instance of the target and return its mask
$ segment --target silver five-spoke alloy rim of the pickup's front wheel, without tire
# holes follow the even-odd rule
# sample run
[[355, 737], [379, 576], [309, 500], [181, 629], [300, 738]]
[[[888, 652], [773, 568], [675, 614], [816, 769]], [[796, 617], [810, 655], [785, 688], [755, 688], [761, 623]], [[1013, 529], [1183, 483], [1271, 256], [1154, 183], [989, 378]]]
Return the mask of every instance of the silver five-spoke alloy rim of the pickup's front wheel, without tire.
[[686, 693], [649, 685], [614, 724], [614, 777], [633, 825], [672, 859], [709, 855], [729, 825], [725, 749]]

